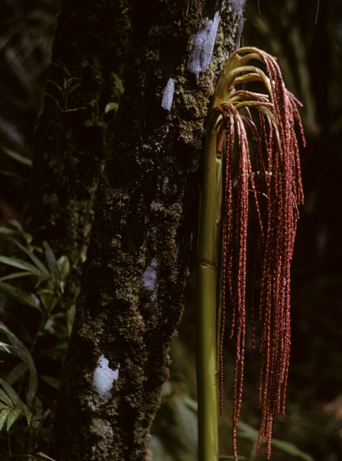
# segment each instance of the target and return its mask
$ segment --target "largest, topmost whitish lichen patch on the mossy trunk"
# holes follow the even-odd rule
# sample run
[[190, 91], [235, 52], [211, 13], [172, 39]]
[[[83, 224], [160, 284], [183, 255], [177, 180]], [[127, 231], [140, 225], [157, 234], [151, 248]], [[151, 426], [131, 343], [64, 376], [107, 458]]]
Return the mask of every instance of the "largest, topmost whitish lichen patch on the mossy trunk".
[[[222, 3], [222, 7], [223, 5], [224, 2]], [[219, 20], [220, 10], [217, 10], [213, 19], [207, 17], [203, 22], [199, 23], [196, 35], [194, 36], [188, 60], [188, 70], [196, 75], [197, 80], [199, 74], [208, 69], [215, 45]]]

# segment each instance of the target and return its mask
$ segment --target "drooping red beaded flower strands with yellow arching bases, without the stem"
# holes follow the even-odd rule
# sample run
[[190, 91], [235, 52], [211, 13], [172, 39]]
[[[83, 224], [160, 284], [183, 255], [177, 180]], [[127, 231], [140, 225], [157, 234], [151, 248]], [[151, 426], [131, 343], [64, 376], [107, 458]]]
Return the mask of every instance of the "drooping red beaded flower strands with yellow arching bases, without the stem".
[[[265, 71], [251, 66], [261, 61]], [[267, 94], [234, 90], [238, 83], [261, 81]], [[286, 382], [290, 353], [290, 264], [298, 205], [303, 203], [295, 122], [305, 144], [297, 106], [299, 101], [285, 88], [275, 58], [256, 48], [235, 51], [217, 82], [214, 109], [209, 124], [226, 130], [226, 159], [223, 179], [223, 302], [219, 339], [221, 390], [223, 384], [223, 341], [226, 310], [232, 312], [230, 336], [235, 338], [233, 447], [237, 459], [236, 428], [240, 413], [245, 350], [245, 293], [247, 233], [256, 219], [255, 255], [252, 269], [252, 343], [254, 304], [263, 322], [259, 352], [259, 406], [261, 427], [258, 447], [268, 443], [275, 416], [285, 411]], [[252, 222], [251, 222], [252, 221]], [[260, 288], [256, 290], [257, 273]], [[257, 302], [258, 298], [258, 302]], [[222, 412], [222, 397], [221, 397]]]

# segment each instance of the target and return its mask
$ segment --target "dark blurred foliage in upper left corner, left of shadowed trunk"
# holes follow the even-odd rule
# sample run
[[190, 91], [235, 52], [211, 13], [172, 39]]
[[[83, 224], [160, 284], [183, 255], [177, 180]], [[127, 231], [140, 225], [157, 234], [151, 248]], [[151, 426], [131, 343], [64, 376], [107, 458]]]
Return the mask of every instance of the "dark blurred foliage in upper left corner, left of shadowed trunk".
[[18, 200], [22, 206], [27, 197], [31, 133], [42, 108], [44, 72], [51, 60], [59, 3], [55, 0], [1, 2], [0, 195], [15, 208]]

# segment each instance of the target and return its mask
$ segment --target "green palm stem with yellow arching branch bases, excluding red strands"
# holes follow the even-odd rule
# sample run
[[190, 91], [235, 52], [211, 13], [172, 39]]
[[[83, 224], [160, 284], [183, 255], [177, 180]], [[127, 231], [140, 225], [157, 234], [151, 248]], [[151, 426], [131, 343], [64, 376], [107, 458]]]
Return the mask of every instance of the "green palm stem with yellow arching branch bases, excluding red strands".
[[[255, 48], [247, 56], [234, 52], [226, 62], [213, 95], [206, 127], [204, 183], [200, 199], [197, 245], [197, 401], [198, 460], [218, 460], [219, 342], [222, 322], [222, 116], [214, 108], [229, 100], [233, 86], [269, 79], [263, 71], [246, 66], [260, 60]], [[242, 50], [240, 50], [242, 51]], [[245, 72], [245, 75], [240, 75]]]

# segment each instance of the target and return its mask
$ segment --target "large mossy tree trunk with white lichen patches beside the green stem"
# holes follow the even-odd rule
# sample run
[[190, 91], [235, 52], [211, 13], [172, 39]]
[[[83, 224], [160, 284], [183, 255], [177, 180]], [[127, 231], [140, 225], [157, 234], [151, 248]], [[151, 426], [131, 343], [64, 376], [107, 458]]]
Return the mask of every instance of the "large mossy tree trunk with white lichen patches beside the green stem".
[[59, 399], [60, 461], [151, 459], [183, 310], [204, 120], [242, 25], [243, 1], [131, 3], [126, 93], [109, 128]]

